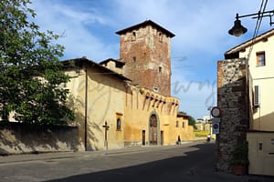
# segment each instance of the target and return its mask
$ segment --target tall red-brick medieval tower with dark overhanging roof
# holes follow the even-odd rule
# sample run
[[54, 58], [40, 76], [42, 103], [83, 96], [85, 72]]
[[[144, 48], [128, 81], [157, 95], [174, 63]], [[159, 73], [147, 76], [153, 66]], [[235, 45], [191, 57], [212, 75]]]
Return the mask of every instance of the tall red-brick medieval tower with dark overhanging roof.
[[174, 34], [151, 20], [116, 34], [121, 35], [120, 58], [125, 62], [124, 75], [131, 78], [133, 84], [170, 96], [170, 38]]

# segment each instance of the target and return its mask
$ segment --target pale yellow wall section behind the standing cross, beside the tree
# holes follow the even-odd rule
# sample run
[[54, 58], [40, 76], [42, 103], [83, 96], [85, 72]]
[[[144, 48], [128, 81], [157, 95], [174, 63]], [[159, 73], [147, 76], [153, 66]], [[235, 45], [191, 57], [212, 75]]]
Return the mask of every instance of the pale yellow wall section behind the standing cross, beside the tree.
[[[80, 149], [85, 143], [85, 108], [86, 108], [86, 72], [81, 69], [79, 73], [74, 70], [67, 71], [73, 76], [68, 83], [70, 90], [68, 106], [75, 109], [76, 122], [79, 126]], [[87, 100], [87, 149], [103, 149], [105, 130], [102, 127], [107, 121], [108, 147], [123, 147], [123, 129], [116, 130], [117, 116], [123, 121], [125, 87], [123, 82], [104, 73], [95, 67], [88, 68], [88, 100]]]

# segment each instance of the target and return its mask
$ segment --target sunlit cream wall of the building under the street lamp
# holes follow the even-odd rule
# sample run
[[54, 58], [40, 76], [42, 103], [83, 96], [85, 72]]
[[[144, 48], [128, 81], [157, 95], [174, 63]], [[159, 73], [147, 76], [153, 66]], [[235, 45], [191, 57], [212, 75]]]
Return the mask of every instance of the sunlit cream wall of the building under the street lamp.
[[[260, 106], [253, 109], [253, 123], [251, 129], [273, 131], [274, 130], [274, 35], [271, 33], [268, 39], [256, 42], [253, 45], [250, 59], [248, 61], [250, 74], [254, 86], [259, 86]], [[239, 52], [239, 57], [248, 57], [249, 46], [245, 51]], [[257, 66], [256, 53], [264, 51], [266, 65]]]

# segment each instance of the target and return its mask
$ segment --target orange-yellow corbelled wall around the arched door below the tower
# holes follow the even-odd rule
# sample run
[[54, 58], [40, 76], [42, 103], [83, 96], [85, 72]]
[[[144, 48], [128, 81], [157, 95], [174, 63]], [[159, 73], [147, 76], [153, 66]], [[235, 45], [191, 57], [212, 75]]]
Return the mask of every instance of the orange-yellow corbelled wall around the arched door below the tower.
[[[137, 86], [128, 87], [125, 106], [125, 145], [142, 145], [142, 133], [145, 133], [145, 145], [150, 145], [151, 129], [150, 116], [157, 116], [157, 145], [174, 145], [177, 136], [191, 138], [191, 134], [184, 135], [189, 129], [177, 128], [177, 111], [179, 100], [174, 97], [165, 97]], [[179, 118], [180, 119], [180, 118]], [[183, 123], [183, 118], [181, 123]], [[182, 124], [181, 124], [182, 125]]]

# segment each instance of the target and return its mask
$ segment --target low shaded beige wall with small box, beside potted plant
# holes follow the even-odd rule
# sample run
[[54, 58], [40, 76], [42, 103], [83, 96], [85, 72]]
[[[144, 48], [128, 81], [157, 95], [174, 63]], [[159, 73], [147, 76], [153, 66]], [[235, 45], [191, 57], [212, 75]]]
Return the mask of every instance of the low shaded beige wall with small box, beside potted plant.
[[247, 140], [248, 173], [274, 176], [274, 132], [249, 131]]

